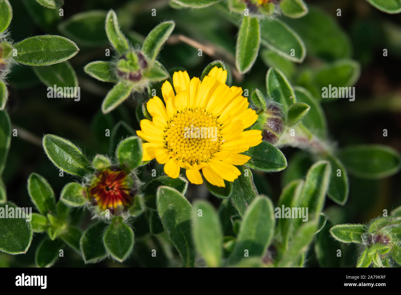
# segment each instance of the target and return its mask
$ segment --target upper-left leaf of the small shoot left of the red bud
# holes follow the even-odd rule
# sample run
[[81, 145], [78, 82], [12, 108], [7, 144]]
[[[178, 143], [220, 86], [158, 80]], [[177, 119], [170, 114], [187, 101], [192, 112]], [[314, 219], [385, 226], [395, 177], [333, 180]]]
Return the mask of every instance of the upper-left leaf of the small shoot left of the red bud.
[[31, 173], [28, 178], [28, 193], [30, 199], [43, 215], [56, 213], [54, 192], [46, 179], [37, 173]]

